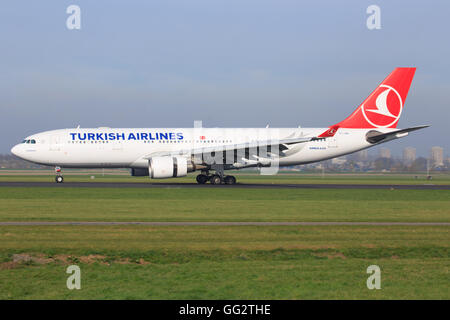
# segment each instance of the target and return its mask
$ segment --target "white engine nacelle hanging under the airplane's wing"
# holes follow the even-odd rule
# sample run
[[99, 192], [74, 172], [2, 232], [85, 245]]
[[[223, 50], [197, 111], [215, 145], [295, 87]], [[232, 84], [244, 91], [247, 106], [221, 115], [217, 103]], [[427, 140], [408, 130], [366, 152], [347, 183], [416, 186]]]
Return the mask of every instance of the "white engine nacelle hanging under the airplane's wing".
[[192, 162], [184, 157], [152, 157], [148, 162], [152, 179], [184, 177], [194, 170]]

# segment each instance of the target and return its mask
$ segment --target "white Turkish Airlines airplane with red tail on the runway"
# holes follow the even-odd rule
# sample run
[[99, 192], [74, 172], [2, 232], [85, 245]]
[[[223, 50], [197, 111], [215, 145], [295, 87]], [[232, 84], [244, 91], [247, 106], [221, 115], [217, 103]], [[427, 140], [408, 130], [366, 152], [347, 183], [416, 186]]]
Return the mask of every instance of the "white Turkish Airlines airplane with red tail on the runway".
[[[226, 170], [322, 161], [398, 139], [427, 126], [397, 129], [415, 68], [397, 68], [345, 120], [328, 128], [100, 127], [52, 130], [26, 137], [11, 152], [27, 161], [60, 168], [130, 168], [132, 176], [183, 177], [235, 184]], [[214, 174], [210, 174], [214, 171]]]

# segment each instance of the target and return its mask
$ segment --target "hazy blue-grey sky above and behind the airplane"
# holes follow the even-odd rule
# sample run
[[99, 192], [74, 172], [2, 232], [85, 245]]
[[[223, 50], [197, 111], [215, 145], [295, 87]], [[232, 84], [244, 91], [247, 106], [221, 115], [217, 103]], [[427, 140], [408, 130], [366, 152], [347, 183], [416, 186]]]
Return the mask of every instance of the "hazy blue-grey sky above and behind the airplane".
[[[81, 7], [81, 30], [66, 8]], [[381, 7], [381, 30], [366, 8]], [[450, 153], [448, 1], [8, 1], [0, 11], [0, 153], [75, 127], [328, 126], [397, 66], [416, 66], [385, 145]]]

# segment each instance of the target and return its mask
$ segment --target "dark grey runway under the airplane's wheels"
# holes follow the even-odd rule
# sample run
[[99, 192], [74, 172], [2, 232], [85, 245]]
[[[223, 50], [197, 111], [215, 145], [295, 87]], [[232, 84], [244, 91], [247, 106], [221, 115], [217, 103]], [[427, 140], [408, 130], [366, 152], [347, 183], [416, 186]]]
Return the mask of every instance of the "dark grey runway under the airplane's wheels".
[[208, 189], [398, 189], [398, 190], [450, 190], [450, 185], [435, 184], [235, 184], [210, 185], [196, 183], [141, 183], [141, 182], [0, 182], [0, 187], [34, 188], [208, 188]]

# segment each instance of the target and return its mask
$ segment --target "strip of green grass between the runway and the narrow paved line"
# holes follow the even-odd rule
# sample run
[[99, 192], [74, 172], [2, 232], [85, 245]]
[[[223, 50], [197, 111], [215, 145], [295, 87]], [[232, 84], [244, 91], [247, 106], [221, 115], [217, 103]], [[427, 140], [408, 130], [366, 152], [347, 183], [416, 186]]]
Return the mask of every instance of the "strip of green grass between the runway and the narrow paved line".
[[0, 190], [0, 221], [450, 221], [446, 190]]

